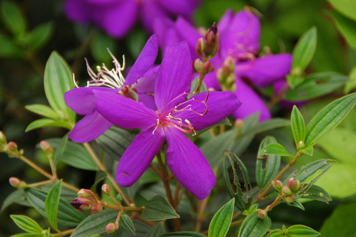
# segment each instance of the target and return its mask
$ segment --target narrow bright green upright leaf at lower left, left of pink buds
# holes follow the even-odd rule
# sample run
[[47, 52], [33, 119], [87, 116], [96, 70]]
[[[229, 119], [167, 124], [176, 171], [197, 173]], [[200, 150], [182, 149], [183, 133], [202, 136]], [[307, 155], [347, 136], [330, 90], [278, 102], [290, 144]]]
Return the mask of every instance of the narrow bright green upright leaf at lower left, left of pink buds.
[[57, 229], [57, 213], [58, 213], [58, 205], [60, 203], [60, 195], [61, 195], [61, 186], [62, 179], [58, 181], [51, 190], [48, 192], [48, 195], [45, 200], [45, 212], [48, 219], [49, 224], [53, 229]]

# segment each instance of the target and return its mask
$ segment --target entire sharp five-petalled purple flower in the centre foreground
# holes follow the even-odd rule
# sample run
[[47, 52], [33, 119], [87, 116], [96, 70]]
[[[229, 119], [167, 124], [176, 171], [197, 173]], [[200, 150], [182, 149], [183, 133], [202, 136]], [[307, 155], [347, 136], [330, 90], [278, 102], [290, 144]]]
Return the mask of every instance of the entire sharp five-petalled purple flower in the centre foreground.
[[192, 76], [191, 56], [186, 42], [168, 46], [157, 73], [157, 111], [143, 103], [106, 91], [96, 90], [96, 111], [123, 128], [142, 128], [117, 165], [116, 181], [131, 186], [149, 167], [167, 141], [167, 165], [182, 185], [198, 199], [204, 199], [216, 179], [204, 155], [183, 133], [211, 126], [239, 108], [230, 91], [207, 92], [188, 100]]

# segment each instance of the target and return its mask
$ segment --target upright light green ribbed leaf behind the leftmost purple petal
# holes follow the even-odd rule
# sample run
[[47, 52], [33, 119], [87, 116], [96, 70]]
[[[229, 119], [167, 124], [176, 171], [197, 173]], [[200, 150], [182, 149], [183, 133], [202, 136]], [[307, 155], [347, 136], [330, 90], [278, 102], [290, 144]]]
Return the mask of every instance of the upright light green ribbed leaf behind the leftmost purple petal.
[[52, 109], [61, 111], [65, 120], [75, 121], [75, 113], [64, 101], [64, 93], [74, 88], [72, 73], [67, 62], [58, 52], [53, 51], [46, 63], [44, 73], [44, 88], [47, 100]]

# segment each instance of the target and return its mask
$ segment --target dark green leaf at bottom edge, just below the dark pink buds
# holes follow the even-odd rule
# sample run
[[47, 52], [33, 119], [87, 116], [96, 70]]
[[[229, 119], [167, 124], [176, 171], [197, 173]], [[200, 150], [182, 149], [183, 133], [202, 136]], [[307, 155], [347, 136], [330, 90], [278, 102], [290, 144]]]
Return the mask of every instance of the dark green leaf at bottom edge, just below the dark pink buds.
[[104, 209], [100, 213], [90, 215], [75, 228], [70, 237], [84, 237], [103, 233], [106, 231], [107, 224], [115, 222], [117, 215], [118, 211], [113, 209]]

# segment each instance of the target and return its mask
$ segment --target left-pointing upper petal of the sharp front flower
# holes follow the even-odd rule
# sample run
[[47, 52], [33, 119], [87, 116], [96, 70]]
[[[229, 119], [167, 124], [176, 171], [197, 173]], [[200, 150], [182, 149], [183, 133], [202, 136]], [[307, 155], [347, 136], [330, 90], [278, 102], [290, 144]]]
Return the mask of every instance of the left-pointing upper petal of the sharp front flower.
[[143, 103], [122, 95], [93, 91], [96, 111], [108, 121], [123, 128], [147, 128], [157, 124], [158, 115]]

